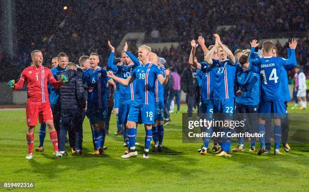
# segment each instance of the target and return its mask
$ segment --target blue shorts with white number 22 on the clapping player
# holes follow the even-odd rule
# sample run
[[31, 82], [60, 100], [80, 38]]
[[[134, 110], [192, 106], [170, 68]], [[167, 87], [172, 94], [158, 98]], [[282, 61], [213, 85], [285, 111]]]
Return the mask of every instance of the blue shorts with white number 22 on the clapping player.
[[229, 113], [225, 115], [226, 119], [233, 119], [235, 98], [230, 99], [213, 99], [214, 113]]

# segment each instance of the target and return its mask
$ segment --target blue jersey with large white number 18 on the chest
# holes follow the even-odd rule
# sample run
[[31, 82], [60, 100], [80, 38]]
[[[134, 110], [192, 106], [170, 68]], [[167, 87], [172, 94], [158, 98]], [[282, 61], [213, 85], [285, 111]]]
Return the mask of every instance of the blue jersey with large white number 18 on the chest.
[[158, 75], [162, 75], [162, 71], [151, 62], [145, 66], [140, 65], [133, 70], [130, 76], [134, 77], [136, 81], [135, 103], [155, 104], [155, 84]]

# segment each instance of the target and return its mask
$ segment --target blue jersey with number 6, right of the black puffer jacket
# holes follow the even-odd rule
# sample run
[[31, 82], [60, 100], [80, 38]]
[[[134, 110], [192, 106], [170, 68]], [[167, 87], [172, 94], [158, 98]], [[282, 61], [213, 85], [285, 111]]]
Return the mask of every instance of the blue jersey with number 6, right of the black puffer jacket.
[[107, 71], [98, 67], [95, 71], [89, 68], [83, 73], [83, 81], [88, 87], [93, 87], [92, 92], [88, 92], [87, 108], [105, 108], [107, 104], [107, 82], [111, 78], [107, 77]]

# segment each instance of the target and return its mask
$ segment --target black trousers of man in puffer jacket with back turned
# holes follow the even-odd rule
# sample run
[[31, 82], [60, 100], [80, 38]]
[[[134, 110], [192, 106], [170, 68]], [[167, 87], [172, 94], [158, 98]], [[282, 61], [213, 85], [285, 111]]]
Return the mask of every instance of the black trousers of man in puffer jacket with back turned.
[[65, 151], [65, 142], [67, 132], [69, 134], [70, 146], [76, 150], [82, 150], [83, 135], [82, 135], [82, 110], [76, 109], [62, 109], [60, 120], [60, 134], [59, 134], [59, 149]]

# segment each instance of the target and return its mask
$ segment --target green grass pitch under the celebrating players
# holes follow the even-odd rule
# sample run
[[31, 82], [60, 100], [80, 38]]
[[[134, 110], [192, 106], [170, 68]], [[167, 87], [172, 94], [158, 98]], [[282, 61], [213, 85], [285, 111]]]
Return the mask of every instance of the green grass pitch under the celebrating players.
[[[289, 108], [292, 106], [290, 104]], [[181, 112], [186, 106], [181, 107]], [[290, 112], [305, 112], [290, 110]], [[0, 111], [0, 181], [33, 181], [35, 191], [305, 191], [308, 190], [309, 145], [291, 144], [283, 156], [256, 156], [246, 151], [232, 158], [197, 153], [201, 144], [182, 143], [182, 114], [171, 114], [172, 122], [164, 127], [164, 152], [142, 158], [144, 129], [138, 127], [139, 155], [121, 159], [122, 136], [116, 132], [112, 115], [110, 135], [102, 156], [92, 156], [93, 146], [88, 119], [83, 124], [83, 156], [55, 159], [48, 133], [45, 151], [34, 152], [26, 160], [26, 122], [23, 110]], [[38, 127], [34, 147], [39, 144]], [[232, 144], [235, 147], [236, 143]], [[272, 146], [273, 147], [273, 146]], [[151, 147], [152, 148], [152, 147]], [[150, 148], [150, 150], [151, 150]], [[272, 148], [273, 149], [273, 148]], [[22, 189], [23, 191], [25, 189]]]

